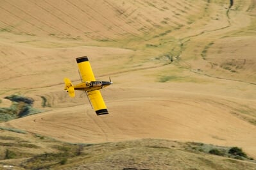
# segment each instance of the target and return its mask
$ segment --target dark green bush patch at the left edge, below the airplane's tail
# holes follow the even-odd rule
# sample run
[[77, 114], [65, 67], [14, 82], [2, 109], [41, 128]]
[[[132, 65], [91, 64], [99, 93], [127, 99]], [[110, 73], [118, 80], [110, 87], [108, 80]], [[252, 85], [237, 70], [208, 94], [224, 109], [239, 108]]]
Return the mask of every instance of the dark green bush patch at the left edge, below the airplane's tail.
[[10, 95], [5, 98], [11, 100], [12, 105], [10, 107], [0, 108], [0, 122], [10, 121], [42, 112], [39, 109], [33, 108], [33, 98], [23, 97], [21, 95]]

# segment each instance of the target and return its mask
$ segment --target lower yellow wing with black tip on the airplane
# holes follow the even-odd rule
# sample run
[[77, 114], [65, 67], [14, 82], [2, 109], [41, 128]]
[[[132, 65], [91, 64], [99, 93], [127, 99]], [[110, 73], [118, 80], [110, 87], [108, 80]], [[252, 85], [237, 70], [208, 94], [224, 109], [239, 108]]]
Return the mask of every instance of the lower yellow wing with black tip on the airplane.
[[108, 114], [107, 107], [99, 90], [89, 91], [87, 94], [97, 115]]

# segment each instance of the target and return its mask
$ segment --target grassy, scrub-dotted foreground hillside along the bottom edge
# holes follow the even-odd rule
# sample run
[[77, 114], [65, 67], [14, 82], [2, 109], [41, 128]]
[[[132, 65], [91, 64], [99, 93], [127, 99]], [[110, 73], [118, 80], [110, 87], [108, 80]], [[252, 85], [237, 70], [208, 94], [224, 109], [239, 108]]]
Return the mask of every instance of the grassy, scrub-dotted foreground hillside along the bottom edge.
[[230, 148], [202, 143], [140, 139], [68, 144], [24, 131], [0, 132], [2, 169], [255, 169], [253, 161], [208, 153], [212, 148], [223, 152]]

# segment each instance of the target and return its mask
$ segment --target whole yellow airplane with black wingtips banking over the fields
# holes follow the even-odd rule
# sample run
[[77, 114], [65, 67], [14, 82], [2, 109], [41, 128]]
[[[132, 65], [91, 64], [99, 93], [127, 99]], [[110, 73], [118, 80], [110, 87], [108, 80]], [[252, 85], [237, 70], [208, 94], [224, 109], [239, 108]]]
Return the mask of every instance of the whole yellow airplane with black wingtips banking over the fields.
[[64, 89], [69, 93], [70, 97], [74, 97], [74, 90], [85, 91], [87, 97], [89, 98], [90, 104], [92, 105], [94, 111], [96, 111], [96, 114], [108, 114], [107, 107], [99, 89], [105, 88], [112, 84], [111, 80], [96, 81], [87, 57], [76, 58], [76, 63], [78, 63], [82, 82], [80, 84], [73, 85], [68, 78], [64, 78]]

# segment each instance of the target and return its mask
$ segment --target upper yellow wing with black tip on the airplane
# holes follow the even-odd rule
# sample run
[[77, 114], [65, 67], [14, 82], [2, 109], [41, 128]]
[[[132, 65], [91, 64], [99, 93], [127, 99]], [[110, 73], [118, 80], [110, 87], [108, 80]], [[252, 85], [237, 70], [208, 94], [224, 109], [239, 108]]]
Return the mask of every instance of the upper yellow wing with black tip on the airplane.
[[78, 63], [78, 68], [83, 82], [95, 81], [94, 73], [92, 72], [92, 67], [90, 66], [89, 59], [87, 57], [76, 58], [76, 63]]

